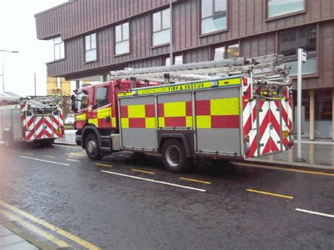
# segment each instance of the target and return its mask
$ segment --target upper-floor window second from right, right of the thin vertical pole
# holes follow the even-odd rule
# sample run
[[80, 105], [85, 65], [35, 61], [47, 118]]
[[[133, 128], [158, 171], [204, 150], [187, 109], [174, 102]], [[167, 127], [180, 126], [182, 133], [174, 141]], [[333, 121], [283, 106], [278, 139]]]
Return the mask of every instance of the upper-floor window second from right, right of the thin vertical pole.
[[202, 34], [227, 28], [226, 1], [227, 0], [202, 0]]

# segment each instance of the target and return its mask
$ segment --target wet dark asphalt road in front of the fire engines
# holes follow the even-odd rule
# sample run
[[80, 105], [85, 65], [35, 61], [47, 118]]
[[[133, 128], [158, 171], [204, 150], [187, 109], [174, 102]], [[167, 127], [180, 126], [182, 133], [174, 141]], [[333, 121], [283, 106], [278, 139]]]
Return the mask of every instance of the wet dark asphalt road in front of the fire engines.
[[153, 156], [91, 161], [76, 147], [0, 150], [2, 201], [101, 248], [334, 248], [334, 218], [295, 210], [334, 215], [333, 174], [222, 162], [175, 174]]

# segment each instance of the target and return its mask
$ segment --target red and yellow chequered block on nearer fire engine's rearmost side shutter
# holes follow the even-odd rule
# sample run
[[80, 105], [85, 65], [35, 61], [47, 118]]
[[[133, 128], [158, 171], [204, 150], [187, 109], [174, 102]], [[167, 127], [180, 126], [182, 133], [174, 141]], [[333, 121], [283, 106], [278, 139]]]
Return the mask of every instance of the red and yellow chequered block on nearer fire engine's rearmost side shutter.
[[239, 128], [239, 115], [237, 97], [196, 101], [197, 128]]

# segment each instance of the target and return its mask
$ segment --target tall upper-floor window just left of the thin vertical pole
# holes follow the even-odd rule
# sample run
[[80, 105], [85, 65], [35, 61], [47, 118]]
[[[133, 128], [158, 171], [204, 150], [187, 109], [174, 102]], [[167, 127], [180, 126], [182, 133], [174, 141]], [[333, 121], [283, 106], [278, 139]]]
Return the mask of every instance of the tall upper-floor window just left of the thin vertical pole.
[[153, 46], [166, 44], [171, 41], [170, 10], [159, 11], [153, 14]]

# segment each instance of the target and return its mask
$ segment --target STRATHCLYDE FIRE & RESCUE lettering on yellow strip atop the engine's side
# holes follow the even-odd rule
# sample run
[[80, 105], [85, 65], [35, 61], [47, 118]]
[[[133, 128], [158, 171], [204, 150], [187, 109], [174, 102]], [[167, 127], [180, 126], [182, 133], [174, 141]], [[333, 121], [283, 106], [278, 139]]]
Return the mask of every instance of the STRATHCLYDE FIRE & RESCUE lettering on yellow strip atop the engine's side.
[[205, 89], [211, 87], [211, 82], [196, 82], [190, 83], [186, 85], [174, 85], [168, 87], [156, 87], [151, 89], [139, 89], [137, 94], [157, 94], [157, 93], [165, 93], [165, 92], [180, 92], [187, 91], [192, 89]]

